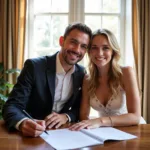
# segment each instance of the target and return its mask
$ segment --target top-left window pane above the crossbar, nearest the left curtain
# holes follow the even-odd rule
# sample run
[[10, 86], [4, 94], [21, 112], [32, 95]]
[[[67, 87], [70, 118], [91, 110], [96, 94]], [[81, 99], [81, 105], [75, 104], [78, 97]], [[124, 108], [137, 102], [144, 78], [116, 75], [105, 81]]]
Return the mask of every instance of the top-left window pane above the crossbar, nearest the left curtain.
[[51, 3], [51, 0], [34, 0], [34, 13], [49, 12]]

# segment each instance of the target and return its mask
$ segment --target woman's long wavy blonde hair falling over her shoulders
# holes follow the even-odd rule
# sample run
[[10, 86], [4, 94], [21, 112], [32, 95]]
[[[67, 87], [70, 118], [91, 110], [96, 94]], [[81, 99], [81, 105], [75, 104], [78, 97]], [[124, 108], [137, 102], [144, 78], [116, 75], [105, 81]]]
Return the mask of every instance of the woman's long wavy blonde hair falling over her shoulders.
[[[118, 64], [118, 61], [120, 59], [120, 48], [114, 34], [107, 29], [98, 29], [95, 32], [93, 32], [91, 43], [94, 37], [99, 35], [103, 35], [108, 39], [108, 42], [113, 50], [112, 59], [110, 62], [110, 68], [108, 71], [108, 77], [109, 77], [108, 85], [110, 87], [112, 97], [115, 97], [118, 94], [119, 87], [121, 86], [120, 77], [122, 75], [122, 71], [120, 65]], [[99, 71], [97, 66], [92, 62], [90, 58], [90, 49], [88, 50], [88, 57], [89, 57], [88, 93], [90, 96], [93, 96], [96, 91], [96, 88], [99, 85], [99, 81], [98, 81]]]

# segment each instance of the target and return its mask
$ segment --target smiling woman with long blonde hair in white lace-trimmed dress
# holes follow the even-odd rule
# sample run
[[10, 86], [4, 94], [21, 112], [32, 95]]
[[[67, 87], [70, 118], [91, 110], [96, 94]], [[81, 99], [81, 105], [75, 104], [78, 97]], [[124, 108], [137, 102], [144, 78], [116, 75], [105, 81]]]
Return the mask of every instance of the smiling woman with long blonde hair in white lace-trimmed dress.
[[[140, 123], [141, 105], [136, 75], [131, 67], [121, 67], [120, 48], [112, 32], [93, 33], [88, 51], [89, 74], [83, 82], [80, 120], [70, 130], [101, 126], [130, 126]], [[99, 117], [89, 119], [90, 106]]]

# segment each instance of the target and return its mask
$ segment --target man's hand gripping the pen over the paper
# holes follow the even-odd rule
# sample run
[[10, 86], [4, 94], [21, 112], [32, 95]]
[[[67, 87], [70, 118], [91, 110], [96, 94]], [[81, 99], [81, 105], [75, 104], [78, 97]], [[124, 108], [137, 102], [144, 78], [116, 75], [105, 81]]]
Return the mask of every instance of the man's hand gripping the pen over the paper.
[[19, 126], [23, 135], [31, 137], [39, 136], [43, 131], [45, 131], [45, 128], [44, 120], [33, 121], [31, 119], [26, 119]]

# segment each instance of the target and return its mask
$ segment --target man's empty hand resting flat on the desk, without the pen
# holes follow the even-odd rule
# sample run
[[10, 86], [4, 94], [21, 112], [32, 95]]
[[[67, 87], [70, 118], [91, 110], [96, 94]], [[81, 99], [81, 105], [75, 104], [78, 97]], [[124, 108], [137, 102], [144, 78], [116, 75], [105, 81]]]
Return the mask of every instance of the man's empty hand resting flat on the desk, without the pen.
[[53, 112], [45, 118], [46, 127], [51, 129], [55, 126], [55, 128], [59, 128], [61, 125], [65, 124], [68, 121], [68, 117], [66, 114], [58, 114]]

